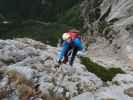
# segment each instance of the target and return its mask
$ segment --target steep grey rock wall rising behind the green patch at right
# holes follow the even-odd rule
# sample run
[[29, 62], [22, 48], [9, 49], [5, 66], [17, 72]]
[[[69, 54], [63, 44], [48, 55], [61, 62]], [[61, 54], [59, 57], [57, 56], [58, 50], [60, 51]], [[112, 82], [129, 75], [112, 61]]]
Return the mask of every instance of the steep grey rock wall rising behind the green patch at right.
[[133, 66], [133, 1], [84, 0], [81, 15], [92, 38], [89, 56], [100, 64]]

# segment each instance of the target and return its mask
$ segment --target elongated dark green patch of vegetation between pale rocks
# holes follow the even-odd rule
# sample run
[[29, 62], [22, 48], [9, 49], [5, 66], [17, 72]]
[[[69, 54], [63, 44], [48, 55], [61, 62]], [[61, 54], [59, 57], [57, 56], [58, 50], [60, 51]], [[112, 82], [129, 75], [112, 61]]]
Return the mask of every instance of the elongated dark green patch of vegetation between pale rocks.
[[122, 71], [120, 68], [106, 69], [105, 67], [92, 62], [87, 57], [81, 58], [81, 62], [86, 66], [89, 72], [96, 74], [103, 81], [111, 81], [116, 74], [124, 73], [124, 71]]

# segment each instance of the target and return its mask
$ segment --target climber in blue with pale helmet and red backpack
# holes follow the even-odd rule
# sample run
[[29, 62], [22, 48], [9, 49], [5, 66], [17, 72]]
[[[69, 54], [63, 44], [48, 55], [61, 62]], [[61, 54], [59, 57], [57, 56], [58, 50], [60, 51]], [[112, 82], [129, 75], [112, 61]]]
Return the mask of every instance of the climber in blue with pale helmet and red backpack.
[[59, 54], [58, 63], [67, 63], [69, 60], [68, 56], [72, 53], [69, 60], [69, 64], [72, 66], [77, 52], [83, 49], [79, 31], [71, 29], [70, 31], [63, 33], [62, 39], [64, 42], [63, 48]]

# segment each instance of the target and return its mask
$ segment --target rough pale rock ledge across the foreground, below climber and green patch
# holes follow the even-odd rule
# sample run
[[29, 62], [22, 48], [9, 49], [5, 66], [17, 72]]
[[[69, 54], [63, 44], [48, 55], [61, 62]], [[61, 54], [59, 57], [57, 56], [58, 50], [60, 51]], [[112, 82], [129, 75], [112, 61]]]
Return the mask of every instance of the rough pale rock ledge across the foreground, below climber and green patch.
[[76, 58], [58, 65], [58, 48], [23, 38], [0, 40], [0, 100], [133, 100], [133, 74], [103, 82]]

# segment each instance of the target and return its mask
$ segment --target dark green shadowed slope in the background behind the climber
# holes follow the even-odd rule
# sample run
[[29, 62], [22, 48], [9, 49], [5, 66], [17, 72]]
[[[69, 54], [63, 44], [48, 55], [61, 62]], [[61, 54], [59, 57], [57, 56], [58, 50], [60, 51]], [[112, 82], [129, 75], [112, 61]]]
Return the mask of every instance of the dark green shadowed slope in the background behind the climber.
[[82, 30], [82, 22], [80, 0], [0, 0], [1, 38], [30, 37], [56, 45], [65, 30]]

